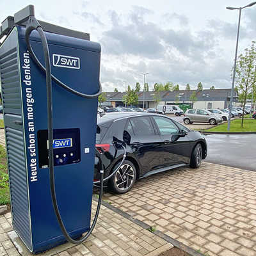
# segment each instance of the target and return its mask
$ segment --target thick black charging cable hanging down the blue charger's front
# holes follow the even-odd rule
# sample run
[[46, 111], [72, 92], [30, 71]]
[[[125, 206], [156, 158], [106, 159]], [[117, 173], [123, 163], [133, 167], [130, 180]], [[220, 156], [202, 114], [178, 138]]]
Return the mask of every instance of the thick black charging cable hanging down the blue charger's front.
[[[49, 175], [50, 175], [52, 205], [53, 205], [54, 212], [56, 214], [58, 223], [60, 225], [61, 231], [62, 231], [63, 235], [65, 236], [65, 238], [67, 239], [67, 241], [69, 241], [70, 243], [73, 243], [73, 244], [80, 244], [80, 243], [83, 243], [90, 236], [90, 234], [92, 234], [93, 228], [95, 227], [95, 225], [97, 223], [97, 218], [99, 216], [100, 204], [101, 204], [101, 201], [102, 201], [102, 194], [103, 194], [103, 180], [104, 180], [103, 164], [102, 164], [102, 160], [100, 158], [100, 154], [96, 150], [96, 154], [99, 157], [99, 161], [100, 161], [100, 193], [99, 193], [99, 200], [98, 200], [97, 210], [95, 212], [95, 217], [94, 217], [92, 226], [90, 227], [88, 232], [81, 239], [77, 239], [77, 240], [76, 239], [72, 239], [72, 237], [70, 237], [68, 235], [68, 232], [67, 232], [67, 230], [65, 228], [65, 225], [64, 225], [64, 223], [63, 223], [63, 221], [61, 219], [61, 215], [60, 215], [60, 211], [59, 211], [58, 203], [57, 203], [57, 199], [56, 199], [55, 180], [54, 180], [53, 147], [52, 147], [52, 142], [53, 142], [53, 128], [52, 128], [52, 79], [54, 80], [54, 76], [51, 75], [51, 59], [50, 59], [50, 55], [49, 55], [49, 47], [48, 47], [48, 44], [47, 44], [47, 39], [46, 39], [44, 30], [41, 28], [40, 24], [35, 19], [35, 17], [30, 16], [29, 20], [28, 20], [28, 25], [26, 27], [26, 43], [28, 45], [28, 48], [30, 47], [29, 48], [30, 49], [30, 51], [29, 51], [30, 56], [33, 58], [33, 60], [38, 65], [40, 62], [38, 62], [38, 60], [37, 60], [37, 58], [35, 56], [35, 53], [33, 51], [31, 51], [31, 45], [29, 43], [29, 36], [30, 36], [30, 34], [31, 34], [31, 32], [33, 30], [38, 31], [38, 33], [40, 35], [40, 38], [42, 40], [42, 46], [43, 46], [43, 49], [44, 49], [45, 68], [42, 68], [41, 64], [39, 65], [39, 67], [41, 67], [44, 70], [45, 76], [46, 76], [47, 122], [48, 122], [47, 130], [48, 130], [48, 141], [49, 141]], [[62, 84], [61, 86], [63, 86], [63, 85], [64, 84]], [[74, 91], [73, 89], [69, 88], [68, 86], [63, 86], [63, 88], [65, 88], [69, 92], [73, 92], [76, 95], [79, 95], [79, 96], [82, 96], [82, 97], [86, 97], [86, 98], [98, 97], [99, 94], [100, 94], [100, 92], [98, 92], [95, 95], [85, 95], [83, 93], [79, 93], [79, 92]], [[101, 86], [100, 86], [100, 90], [101, 90]]]

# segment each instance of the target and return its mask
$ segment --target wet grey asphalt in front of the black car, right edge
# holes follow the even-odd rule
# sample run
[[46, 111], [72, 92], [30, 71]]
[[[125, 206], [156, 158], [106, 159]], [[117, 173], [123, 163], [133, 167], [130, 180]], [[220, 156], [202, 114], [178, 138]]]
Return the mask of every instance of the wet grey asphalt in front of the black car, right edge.
[[211, 134], [205, 139], [205, 161], [256, 171], [256, 134]]

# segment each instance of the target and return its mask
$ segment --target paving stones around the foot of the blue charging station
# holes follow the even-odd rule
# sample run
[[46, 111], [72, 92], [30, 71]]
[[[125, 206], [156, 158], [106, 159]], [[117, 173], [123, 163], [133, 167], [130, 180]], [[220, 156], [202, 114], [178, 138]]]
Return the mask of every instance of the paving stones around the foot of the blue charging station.
[[[93, 214], [96, 207], [97, 203], [93, 201]], [[13, 239], [10, 239], [10, 234], [13, 232], [12, 230], [10, 212], [0, 216], [0, 255], [32, 255], [23, 245], [22, 250], [17, 250], [13, 244]], [[15, 241], [15, 243], [17, 243], [17, 241]], [[21, 244], [21, 241], [19, 243]], [[20, 246], [17, 247], [20, 248]], [[172, 244], [167, 243], [160, 237], [152, 234], [152, 232], [145, 230], [102, 205], [97, 225], [88, 241], [79, 245], [69, 243], [62, 244], [38, 255], [157, 256], [172, 247]]]

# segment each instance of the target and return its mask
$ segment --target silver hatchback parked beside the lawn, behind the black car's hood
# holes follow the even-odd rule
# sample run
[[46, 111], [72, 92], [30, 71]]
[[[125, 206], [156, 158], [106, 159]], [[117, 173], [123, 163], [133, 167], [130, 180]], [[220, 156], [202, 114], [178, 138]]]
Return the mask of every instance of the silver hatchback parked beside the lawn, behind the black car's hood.
[[209, 123], [211, 125], [221, 123], [223, 119], [219, 115], [215, 115], [205, 109], [188, 109], [184, 114], [184, 124]]

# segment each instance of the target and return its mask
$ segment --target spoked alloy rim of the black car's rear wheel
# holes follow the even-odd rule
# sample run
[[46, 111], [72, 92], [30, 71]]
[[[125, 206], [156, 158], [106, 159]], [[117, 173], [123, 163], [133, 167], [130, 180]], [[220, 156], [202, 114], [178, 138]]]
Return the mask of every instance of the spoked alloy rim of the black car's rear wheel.
[[134, 170], [134, 166], [129, 163], [122, 164], [122, 166], [118, 169], [115, 175], [115, 187], [118, 191], [122, 191], [122, 193], [127, 192], [131, 189], [134, 184], [134, 179], [136, 179], [136, 170]]

